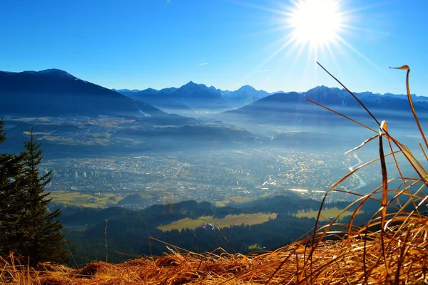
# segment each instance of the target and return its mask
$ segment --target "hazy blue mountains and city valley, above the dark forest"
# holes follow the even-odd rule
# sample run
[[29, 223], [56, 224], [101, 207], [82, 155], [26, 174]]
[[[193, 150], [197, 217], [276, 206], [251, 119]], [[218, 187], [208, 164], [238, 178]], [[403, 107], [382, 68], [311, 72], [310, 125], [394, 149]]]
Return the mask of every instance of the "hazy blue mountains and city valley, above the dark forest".
[[[270, 94], [190, 81], [180, 88], [116, 92], [52, 69], [2, 72], [0, 93], [8, 134], [2, 147], [19, 151], [33, 130], [44, 147], [42, 167], [54, 171], [49, 191], [91, 196], [73, 201], [54, 195], [54, 202], [63, 204], [136, 209], [195, 199], [225, 205], [290, 191], [321, 199], [350, 167], [376, 155], [375, 144], [345, 155], [370, 131], [308, 101], [376, 129], [355, 99], [338, 88]], [[411, 114], [403, 108], [403, 95], [356, 95], [378, 118], [399, 121], [393, 131], [402, 140], [417, 143], [417, 133], [407, 129]], [[414, 100], [425, 118], [428, 100], [416, 95]], [[374, 173], [379, 168], [367, 167], [342, 187], [365, 193], [377, 182]], [[100, 204], [94, 195], [113, 196]]]

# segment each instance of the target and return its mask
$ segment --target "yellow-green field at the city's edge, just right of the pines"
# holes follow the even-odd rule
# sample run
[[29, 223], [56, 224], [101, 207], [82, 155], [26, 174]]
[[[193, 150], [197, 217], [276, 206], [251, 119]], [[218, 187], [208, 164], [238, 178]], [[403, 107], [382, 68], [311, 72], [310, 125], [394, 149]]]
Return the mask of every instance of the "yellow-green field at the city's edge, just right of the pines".
[[68, 204], [73, 206], [105, 208], [118, 204], [118, 202], [126, 196], [126, 194], [117, 193], [93, 193], [83, 194], [73, 191], [52, 191], [51, 195], [53, 202]]

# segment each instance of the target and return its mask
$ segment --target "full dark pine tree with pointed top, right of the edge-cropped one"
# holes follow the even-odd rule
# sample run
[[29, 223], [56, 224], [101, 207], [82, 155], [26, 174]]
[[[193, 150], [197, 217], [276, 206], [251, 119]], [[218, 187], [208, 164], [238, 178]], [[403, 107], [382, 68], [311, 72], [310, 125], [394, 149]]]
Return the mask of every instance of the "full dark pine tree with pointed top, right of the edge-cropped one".
[[46, 185], [51, 182], [51, 171], [41, 175], [39, 165], [43, 150], [41, 142], [34, 140], [31, 130], [30, 137], [24, 143], [21, 152], [23, 175], [19, 178], [19, 187], [24, 192], [23, 202], [26, 204], [24, 224], [26, 229], [24, 239], [20, 244], [19, 254], [30, 257], [31, 264], [39, 261], [64, 263], [68, 261], [68, 252], [63, 249], [67, 244], [61, 233], [62, 224], [56, 221], [61, 211], [56, 209], [49, 212], [49, 192], [44, 192]]

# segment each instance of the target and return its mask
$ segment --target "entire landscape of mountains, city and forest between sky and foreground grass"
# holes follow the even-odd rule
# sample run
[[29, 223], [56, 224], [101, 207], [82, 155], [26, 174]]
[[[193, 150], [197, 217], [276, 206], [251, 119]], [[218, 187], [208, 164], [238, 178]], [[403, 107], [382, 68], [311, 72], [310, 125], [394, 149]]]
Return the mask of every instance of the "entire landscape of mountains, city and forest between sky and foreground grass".
[[[195, 252], [277, 249], [305, 237], [322, 199], [320, 225], [355, 195], [379, 186], [382, 176], [374, 162], [325, 197], [335, 182], [378, 152], [377, 143], [369, 142], [345, 154], [370, 131], [306, 100], [372, 126], [337, 88], [272, 94], [250, 86], [228, 91], [190, 82], [116, 92], [58, 70], [0, 73], [2, 82], [0, 93], [8, 101], [0, 105], [6, 132], [1, 150], [18, 154], [31, 134], [41, 142], [40, 174], [52, 177], [44, 187], [51, 193], [49, 208], [63, 211], [58, 219], [76, 246], [78, 264], [102, 257], [104, 243], [113, 262], [127, 259], [126, 254], [162, 254], [165, 244], [148, 244], [150, 238]], [[46, 106], [34, 102], [38, 96]], [[394, 128], [405, 114], [399, 109], [404, 98], [367, 93], [362, 98], [389, 120], [394, 134], [417, 142], [407, 120]], [[97, 100], [103, 102], [97, 105]], [[417, 101], [422, 117], [428, 114], [424, 102]], [[392, 166], [389, 177], [397, 176], [391, 157], [386, 163]], [[405, 165], [402, 171], [414, 174]], [[392, 181], [389, 187], [399, 184]], [[367, 202], [355, 224], [367, 222], [377, 206]]]

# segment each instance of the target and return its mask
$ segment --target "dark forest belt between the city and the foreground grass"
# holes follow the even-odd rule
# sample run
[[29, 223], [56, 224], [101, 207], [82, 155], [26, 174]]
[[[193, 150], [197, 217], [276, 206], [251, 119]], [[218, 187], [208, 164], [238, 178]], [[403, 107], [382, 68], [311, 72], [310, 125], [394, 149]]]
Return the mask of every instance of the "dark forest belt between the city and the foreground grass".
[[[335, 202], [325, 208], [345, 208], [349, 202]], [[355, 224], [363, 224], [377, 209], [376, 202], [364, 205]], [[93, 260], [117, 263], [135, 257], [156, 255], [178, 247], [191, 252], [211, 252], [224, 249], [227, 252], [257, 252], [274, 250], [307, 237], [315, 225], [315, 219], [295, 217], [299, 211], [317, 210], [320, 202], [301, 199], [297, 195], [278, 195], [240, 204], [239, 207], [216, 207], [210, 202], [185, 201], [176, 204], [155, 205], [141, 210], [121, 207], [93, 209], [66, 207], [60, 220], [63, 233], [71, 240], [74, 261], [71, 266]], [[222, 218], [230, 214], [277, 213], [275, 219], [253, 225], [231, 227], [196, 227], [195, 229], [173, 229], [163, 232], [161, 224], [183, 218], [214, 216]], [[344, 217], [341, 222], [346, 222]], [[107, 221], [107, 222], [106, 222]], [[320, 224], [330, 222], [323, 217]], [[107, 226], [107, 227], [106, 227]], [[338, 226], [340, 227], [340, 226]], [[167, 244], [168, 245], [167, 247]], [[221, 251], [221, 250], [220, 250]]]

